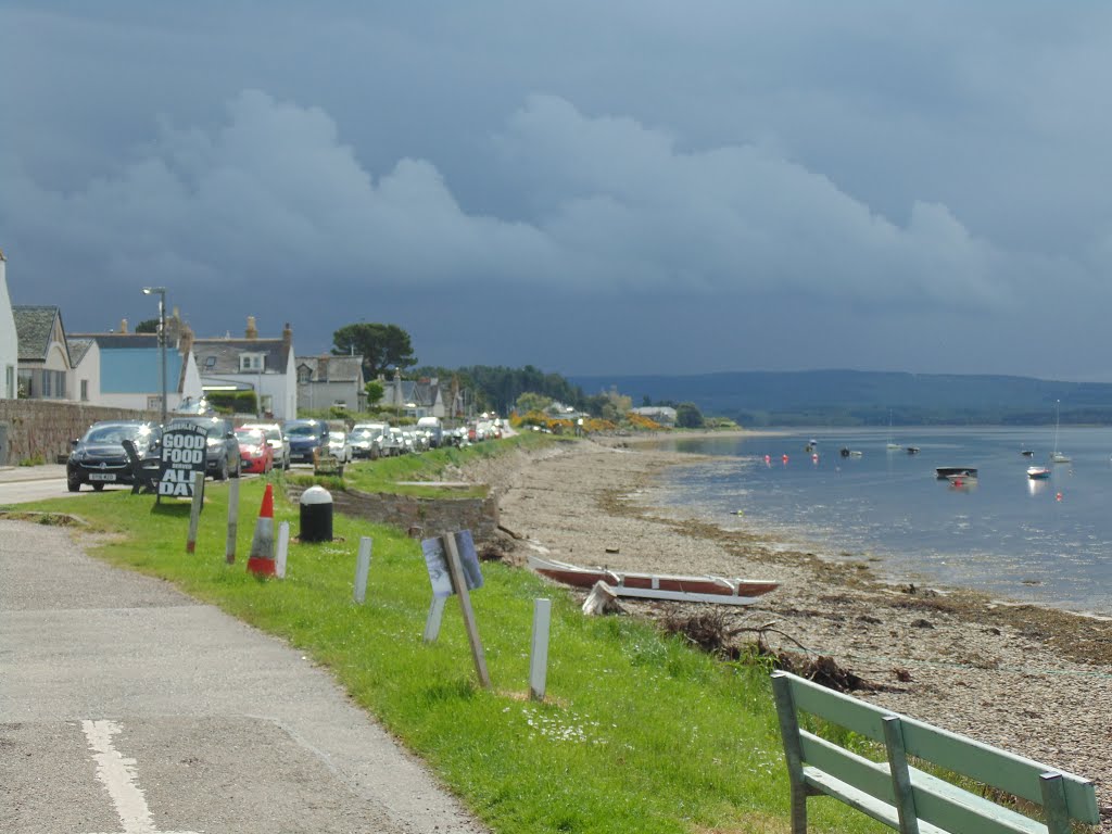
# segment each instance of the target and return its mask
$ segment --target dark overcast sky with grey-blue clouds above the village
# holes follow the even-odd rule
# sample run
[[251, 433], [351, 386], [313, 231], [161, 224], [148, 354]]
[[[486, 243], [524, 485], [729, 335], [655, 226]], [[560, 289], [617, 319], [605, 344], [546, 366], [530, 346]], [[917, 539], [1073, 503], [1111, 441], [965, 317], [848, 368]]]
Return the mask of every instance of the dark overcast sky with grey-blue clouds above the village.
[[70, 331], [1112, 380], [1112, 7], [0, 0], [0, 249]]

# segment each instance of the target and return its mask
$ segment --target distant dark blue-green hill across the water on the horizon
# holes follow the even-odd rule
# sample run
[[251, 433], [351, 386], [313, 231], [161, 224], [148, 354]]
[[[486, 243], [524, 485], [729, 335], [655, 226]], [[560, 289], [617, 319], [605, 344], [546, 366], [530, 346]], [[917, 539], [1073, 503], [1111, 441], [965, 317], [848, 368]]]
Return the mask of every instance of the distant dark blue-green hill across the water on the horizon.
[[586, 395], [612, 386], [635, 406], [694, 403], [743, 426], [1112, 425], [1112, 384], [862, 370], [568, 377]]

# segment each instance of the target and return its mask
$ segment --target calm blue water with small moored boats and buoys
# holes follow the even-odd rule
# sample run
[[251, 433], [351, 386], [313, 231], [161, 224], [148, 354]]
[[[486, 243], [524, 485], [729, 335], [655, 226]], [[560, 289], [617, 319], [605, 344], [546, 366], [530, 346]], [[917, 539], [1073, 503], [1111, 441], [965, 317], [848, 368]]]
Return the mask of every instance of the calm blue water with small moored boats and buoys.
[[[1112, 429], [1063, 428], [1073, 461], [1042, 481], [1026, 468], [1049, 465], [1053, 427], [896, 429], [893, 441], [917, 455], [886, 450], [888, 439], [883, 428], [671, 441], [717, 459], [672, 470], [653, 500], [825, 556], [876, 557], [894, 577], [1112, 614]], [[955, 487], [937, 466], [979, 478]]]

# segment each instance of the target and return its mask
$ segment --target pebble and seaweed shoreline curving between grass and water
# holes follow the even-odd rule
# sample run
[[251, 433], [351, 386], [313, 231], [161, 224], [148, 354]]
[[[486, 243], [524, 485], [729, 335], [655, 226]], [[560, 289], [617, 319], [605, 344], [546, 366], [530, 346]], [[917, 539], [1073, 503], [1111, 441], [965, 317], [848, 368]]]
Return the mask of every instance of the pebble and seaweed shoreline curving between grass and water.
[[[758, 533], [653, 507], [648, 493], [666, 468], [706, 460], [654, 449], [659, 439], [590, 438], [528, 465], [494, 464], [503, 469], [488, 478], [500, 481], [493, 486], [502, 523], [520, 537], [512, 559], [524, 563], [533, 549], [584, 566], [777, 579], [781, 587], [752, 606], [714, 610], [733, 628], [772, 622], [783, 637], [770, 632], [770, 648], [804, 654], [801, 644], [811, 659], [831, 656], [883, 687], [855, 696], [1093, 780], [1101, 831], [1112, 832], [1108, 618], [921, 586], [861, 559], [780, 549]], [[648, 617], [707, 607], [622, 605]], [[741, 642], [752, 639], [743, 634]]]

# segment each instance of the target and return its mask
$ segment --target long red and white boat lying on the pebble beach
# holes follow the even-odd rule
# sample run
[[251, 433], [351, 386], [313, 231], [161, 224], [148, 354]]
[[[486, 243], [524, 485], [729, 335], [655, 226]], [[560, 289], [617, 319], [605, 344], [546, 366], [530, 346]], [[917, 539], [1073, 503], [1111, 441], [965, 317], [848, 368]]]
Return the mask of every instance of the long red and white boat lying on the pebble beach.
[[739, 579], [723, 576], [681, 576], [612, 570], [606, 567], [579, 567], [539, 556], [528, 557], [529, 567], [549, 579], [577, 588], [593, 588], [605, 583], [617, 596], [677, 602], [746, 605], [780, 587], [778, 582]]

